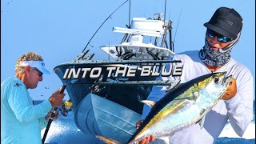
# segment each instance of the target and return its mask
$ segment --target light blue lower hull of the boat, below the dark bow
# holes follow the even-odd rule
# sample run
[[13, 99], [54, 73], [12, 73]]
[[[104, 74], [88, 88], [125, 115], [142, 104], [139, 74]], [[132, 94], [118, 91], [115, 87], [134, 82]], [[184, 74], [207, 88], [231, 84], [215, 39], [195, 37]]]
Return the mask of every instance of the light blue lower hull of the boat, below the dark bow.
[[86, 134], [104, 135], [127, 142], [141, 115], [96, 94], [87, 94], [74, 113], [78, 128]]

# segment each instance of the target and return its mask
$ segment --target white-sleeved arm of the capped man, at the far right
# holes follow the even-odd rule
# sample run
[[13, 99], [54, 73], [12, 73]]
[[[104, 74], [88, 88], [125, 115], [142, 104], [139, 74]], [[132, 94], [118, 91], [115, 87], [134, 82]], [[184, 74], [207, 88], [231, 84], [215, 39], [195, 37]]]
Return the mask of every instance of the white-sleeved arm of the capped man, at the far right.
[[246, 71], [239, 81], [237, 94], [224, 102], [231, 126], [242, 137], [253, 118], [254, 82], [250, 71]]

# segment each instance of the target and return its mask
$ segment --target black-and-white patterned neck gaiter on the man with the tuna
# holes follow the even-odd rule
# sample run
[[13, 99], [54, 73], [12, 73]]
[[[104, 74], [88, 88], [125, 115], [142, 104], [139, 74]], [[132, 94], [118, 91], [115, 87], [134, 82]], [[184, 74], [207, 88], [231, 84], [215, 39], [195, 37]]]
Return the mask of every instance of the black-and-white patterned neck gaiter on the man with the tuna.
[[227, 62], [230, 62], [230, 52], [234, 45], [238, 42], [240, 38], [240, 33], [238, 33], [237, 38], [230, 42], [229, 45], [223, 47], [222, 49], [212, 50], [205, 38], [205, 46], [199, 52], [199, 57], [202, 62], [208, 66], [224, 66]]

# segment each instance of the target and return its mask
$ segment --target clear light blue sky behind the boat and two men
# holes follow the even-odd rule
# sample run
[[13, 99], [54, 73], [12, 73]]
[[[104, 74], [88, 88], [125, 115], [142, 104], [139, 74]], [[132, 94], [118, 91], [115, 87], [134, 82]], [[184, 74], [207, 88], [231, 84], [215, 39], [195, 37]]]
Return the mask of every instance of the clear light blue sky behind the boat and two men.
[[[17, 59], [29, 51], [42, 55], [46, 68], [38, 88], [30, 90], [34, 99], [48, 99], [62, 86], [54, 67], [78, 56], [98, 27], [124, 0], [1, 0], [1, 83], [14, 76]], [[131, 18], [152, 18], [165, 13], [164, 0], [131, 1]], [[241, 38], [231, 57], [246, 65], [254, 77], [255, 86], [255, 1], [178, 0], [166, 1], [166, 18], [173, 21], [174, 52], [200, 50], [204, 45], [206, 27], [218, 7], [234, 8], [243, 18]], [[94, 59], [107, 59], [99, 46], [119, 44], [123, 34], [112, 27], [129, 23], [129, 2], [118, 9], [90, 42]], [[67, 92], [66, 92], [67, 94]], [[66, 98], [68, 99], [68, 94]]]

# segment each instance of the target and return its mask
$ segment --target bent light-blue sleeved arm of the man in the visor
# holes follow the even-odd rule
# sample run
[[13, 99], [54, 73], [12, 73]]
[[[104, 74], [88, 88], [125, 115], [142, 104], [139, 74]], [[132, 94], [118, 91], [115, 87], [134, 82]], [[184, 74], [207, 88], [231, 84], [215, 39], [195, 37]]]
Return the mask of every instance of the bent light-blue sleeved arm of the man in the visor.
[[10, 94], [8, 102], [10, 108], [14, 111], [19, 122], [30, 122], [42, 117], [51, 109], [50, 101], [44, 101], [36, 106], [31, 105], [30, 96], [25, 86], [14, 86], [10, 84]]

